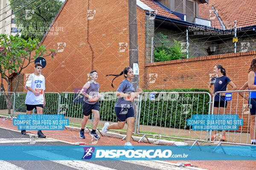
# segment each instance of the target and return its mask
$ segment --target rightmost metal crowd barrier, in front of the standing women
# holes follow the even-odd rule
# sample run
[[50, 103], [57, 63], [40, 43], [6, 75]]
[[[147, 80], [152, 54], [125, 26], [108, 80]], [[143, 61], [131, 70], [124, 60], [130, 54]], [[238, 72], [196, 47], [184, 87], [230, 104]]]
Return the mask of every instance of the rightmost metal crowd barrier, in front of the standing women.
[[[240, 144], [240, 145], [249, 145], [250, 142], [250, 107], [251, 104], [248, 104], [247, 97], [249, 92], [254, 92], [256, 90], [245, 90], [245, 91], [219, 91], [213, 95], [213, 101], [216, 98], [217, 94], [220, 93], [232, 93], [231, 100], [227, 101], [227, 108], [224, 108], [224, 113], [221, 113], [218, 108], [216, 111], [217, 114], [226, 114], [226, 115], [238, 115], [239, 119], [243, 119], [243, 125], [239, 126], [238, 130], [226, 130], [226, 141], [222, 141], [223, 130], [217, 130], [217, 137], [214, 140], [209, 139], [209, 142], [219, 142], [220, 144]], [[244, 96], [239, 96], [239, 93]], [[220, 100], [220, 96], [217, 98]], [[225, 98], [226, 102], [226, 98]], [[225, 104], [226, 105], [226, 104]], [[214, 114], [214, 105], [212, 104], [212, 114]], [[254, 122], [255, 125], [255, 122]], [[255, 128], [254, 128], [255, 129]], [[210, 130], [210, 136], [212, 135], [212, 130]], [[254, 136], [256, 139], [256, 136]]]

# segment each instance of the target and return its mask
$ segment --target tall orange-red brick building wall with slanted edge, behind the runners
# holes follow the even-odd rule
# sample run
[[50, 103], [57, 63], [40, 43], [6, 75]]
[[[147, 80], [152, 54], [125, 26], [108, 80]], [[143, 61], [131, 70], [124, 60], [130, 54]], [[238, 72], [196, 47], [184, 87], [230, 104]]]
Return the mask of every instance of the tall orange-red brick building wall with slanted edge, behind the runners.
[[[87, 9], [96, 10], [93, 20], [86, 20]], [[145, 53], [145, 12], [137, 7], [138, 44], [140, 73], [144, 68]], [[46, 92], [72, 92], [82, 88], [90, 71], [98, 71], [100, 91], [114, 91], [111, 87], [113, 77], [106, 74], [119, 74], [129, 66], [129, 51], [118, 53], [119, 42], [129, 45], [128, 0], [67, 0], [55, 19], [55, 27], [63, 28], [58, 36], [46, 36], [42, 44], [57, 50], [57, 42], [66, 42], [64, 51], [53, 59], [46, 57], [47, 66], [42, 70], [46, 78]], [[49, 31], [49, 34], [54, 31]], [[34, 64], [24, 73], [34, 72]], [[140, 80], [144, 81], [140, 74]], [[115, 79], [118, 87], [124, 77]], [[143, 85], [143, 83], [141, 83]], [[26, 89], [24, 89], [26, 91]]]

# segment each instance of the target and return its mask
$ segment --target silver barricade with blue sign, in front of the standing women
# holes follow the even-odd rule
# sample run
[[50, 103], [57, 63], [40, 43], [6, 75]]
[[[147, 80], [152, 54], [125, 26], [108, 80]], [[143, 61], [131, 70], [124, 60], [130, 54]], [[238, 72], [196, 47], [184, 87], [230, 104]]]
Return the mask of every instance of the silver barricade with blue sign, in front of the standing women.
[[[216, 134], [209, 138], [210, 142], [247, 145], [251, 144], [250, 135], [252, 135], [253, 139], [256, 139], [256, 135], [253, 135], [251, 132], [255, 130], [256, 127], [256, 122], [252, 122], [252, 118], [255, 118], [255, 116], [251, 116], [250, 114], [250, 109], [256, 108], [256, 99], [251, 99], [248, 102], [249, 92], [256, 92], [256, 90], [219, 91], [213, 95], [212, 100], [215, 101], [216, 104], [215, 106], [212, 104], [212, 115], [219, 115], [219, 118], [224, 118], [224, 115], [229, 115], [230, 120], [225, 120], [225, 122], [223, 121], [221, 123], [223, 127], [224, 125], [229, 127], [227, 130], [220, 129], [217, 130], [216, 133], [212, 130], [209, 131], [209, 136]], [[219, 94], [222, 94], [223, 97]], [[238, 120], [234, 120], [233, 118], [235, 117], [238, 117]], [[242, 125], [238, 125], [241, 122]], [[251, 123], [253, 124], [253, 129], [250, 129]], [[233, 129], [233, 127], [236, 126], [234, 124], [238, 126], [237, 130]], [[223, 135], [226, 138], [225, 140]]]

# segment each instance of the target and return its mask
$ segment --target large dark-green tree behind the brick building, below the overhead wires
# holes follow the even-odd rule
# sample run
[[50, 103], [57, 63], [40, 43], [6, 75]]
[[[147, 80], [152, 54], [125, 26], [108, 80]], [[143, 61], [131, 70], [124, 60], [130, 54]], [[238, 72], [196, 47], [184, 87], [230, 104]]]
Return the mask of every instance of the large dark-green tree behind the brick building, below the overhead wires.
[[63, 4], [60, 0], [10, 0], [10, 3], [13, 13], [17, 12], [15, 24], [25, 40], [42, 40]]

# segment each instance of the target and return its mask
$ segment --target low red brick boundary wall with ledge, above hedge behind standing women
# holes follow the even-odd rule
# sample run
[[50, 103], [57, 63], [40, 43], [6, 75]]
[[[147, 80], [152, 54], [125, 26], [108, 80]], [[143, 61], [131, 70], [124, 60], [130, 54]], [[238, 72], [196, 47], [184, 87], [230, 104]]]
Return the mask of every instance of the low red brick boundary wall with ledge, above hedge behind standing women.
[[[247, 70], [254, 57], [256, 51], [248, 51], [148, 63], [145, 65], [146, 88], [208, 88], [209, 74], [217, 64], [226, 68], [227, 76], [241, 87], [247, 81]], [[155, 83], [148, 83], [148, 74], [158, 74]]]

